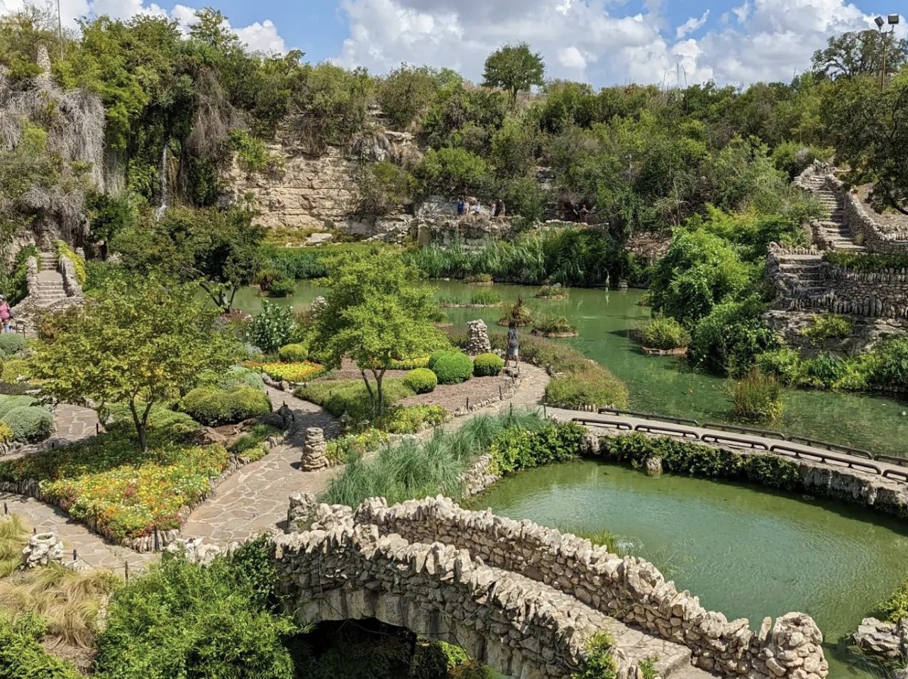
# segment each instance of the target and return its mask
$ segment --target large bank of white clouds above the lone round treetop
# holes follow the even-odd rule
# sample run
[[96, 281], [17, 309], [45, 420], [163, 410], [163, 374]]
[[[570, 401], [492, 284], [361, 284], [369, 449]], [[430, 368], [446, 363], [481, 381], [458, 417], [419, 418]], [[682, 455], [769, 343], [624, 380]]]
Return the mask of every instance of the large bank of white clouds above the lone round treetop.
[[718, 21], [706, 12], [668, 26], [665, 0], [646, 0], [645, 14], [621, 0], [343, 0], [350, 37], [336, 61], [373, 73], [449, 66], [478, 80], [490, 52], [526, 41], [547, 77], [597, 86], [787, 82], [830, 35], [871, 25], [855, 2], [867, 0], [745, 0]]

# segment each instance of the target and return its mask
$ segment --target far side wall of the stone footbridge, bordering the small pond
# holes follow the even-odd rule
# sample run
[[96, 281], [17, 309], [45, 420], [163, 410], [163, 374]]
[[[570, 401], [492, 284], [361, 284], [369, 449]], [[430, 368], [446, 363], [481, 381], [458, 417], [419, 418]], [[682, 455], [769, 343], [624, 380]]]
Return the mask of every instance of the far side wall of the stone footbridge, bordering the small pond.
[[467, 511], [443, 497], [394, 507], [380, 498], [367, 500], [355, 521], [376, 526], [381, 536], [440, 541], [489, 566], [553, 586], [627, 625], [686, 645], [705, 670], [793, 679], [827, 674], [822, 634], [808, 615], [784, 615], [775, 625], [765, 618], [754, 633], [746, 619], [728, 622], [725, 615], [706, 611], [696, 596], [678, 592], [656, 566], [609, 554], [576, 536], [489, 511]]

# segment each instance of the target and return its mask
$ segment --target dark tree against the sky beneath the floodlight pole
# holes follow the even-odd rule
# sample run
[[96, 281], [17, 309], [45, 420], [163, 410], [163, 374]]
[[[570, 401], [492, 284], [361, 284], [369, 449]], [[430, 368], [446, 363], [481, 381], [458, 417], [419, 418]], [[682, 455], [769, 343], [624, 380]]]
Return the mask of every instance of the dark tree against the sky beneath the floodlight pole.
[[814, 71], [831, 78], [886, 74], [908, 63], [908, 40], [873, 30], [850, 31], [829, 38], [825, 49], [814, 52]]

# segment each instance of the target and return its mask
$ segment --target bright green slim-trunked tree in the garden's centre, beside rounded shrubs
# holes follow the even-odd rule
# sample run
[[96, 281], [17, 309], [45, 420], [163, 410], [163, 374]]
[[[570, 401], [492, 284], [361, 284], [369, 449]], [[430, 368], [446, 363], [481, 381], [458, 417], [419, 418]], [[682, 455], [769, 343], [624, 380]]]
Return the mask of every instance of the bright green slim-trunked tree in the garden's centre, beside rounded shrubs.
[[445, 345], [433, 325], [439, 311], [434, 294], [419, 285], [419, 271], [389, 251], [335, 261], [328, 289], [313, 344], [334, 366], [344, 356], [356, 362], [372, 413], [379, 415], [385, 405], [382, 382], [391, 360], [426, 356]]

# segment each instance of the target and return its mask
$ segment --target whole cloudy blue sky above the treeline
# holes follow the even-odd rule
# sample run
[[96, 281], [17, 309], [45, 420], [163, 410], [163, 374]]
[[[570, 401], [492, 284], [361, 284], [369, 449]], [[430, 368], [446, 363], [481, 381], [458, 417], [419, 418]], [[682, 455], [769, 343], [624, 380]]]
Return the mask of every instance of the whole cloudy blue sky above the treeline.
[[[37, 0], [41, 3], [45, 0]], [[25, 0], [0, 0], [0, 12]], [[54, 4], [56, 0], [50, 0]], [[64, 26], [75, 18], [169, 15], [183, 25], [195, 8], [222, 10], [254, 50], [301, 49], [384, 74], [401, 63], [448, 66], [479, 81], [486, 56], [527, 42], [548, 78], [609, 84], [788, 82], [814, 50], [905, 0], [59, 0]], [[187, 0], [192, 2], [192, 0]]]

